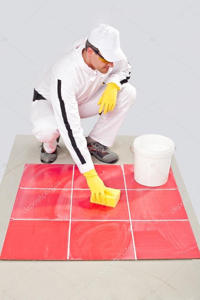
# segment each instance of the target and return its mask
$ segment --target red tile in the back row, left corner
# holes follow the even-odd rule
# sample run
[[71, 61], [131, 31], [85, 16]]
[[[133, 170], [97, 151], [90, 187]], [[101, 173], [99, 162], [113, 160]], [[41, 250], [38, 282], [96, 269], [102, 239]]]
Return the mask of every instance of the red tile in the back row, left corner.
[[19, 187], [71, 188], [73, 165], [25, 164]]

